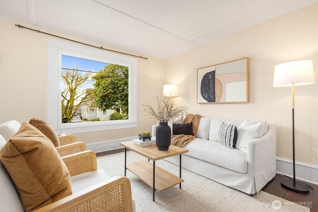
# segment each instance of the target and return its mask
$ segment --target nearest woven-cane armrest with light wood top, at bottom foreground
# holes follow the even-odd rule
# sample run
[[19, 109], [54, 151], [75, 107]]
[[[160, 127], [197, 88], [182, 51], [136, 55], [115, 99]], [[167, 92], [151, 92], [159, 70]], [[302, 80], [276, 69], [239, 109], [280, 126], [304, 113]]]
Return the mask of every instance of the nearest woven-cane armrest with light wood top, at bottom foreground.
[[105, 211], [105, 209], [133, 211], [131, 185], [127, 177], [122, 175], [112, 177], [35, 212]]

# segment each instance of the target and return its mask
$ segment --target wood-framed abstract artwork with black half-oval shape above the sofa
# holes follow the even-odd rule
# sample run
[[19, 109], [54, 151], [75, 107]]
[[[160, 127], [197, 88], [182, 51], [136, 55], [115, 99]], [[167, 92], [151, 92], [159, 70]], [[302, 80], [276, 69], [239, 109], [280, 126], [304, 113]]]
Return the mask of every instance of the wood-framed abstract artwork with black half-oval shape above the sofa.
[[197, 69], [197, 103], [248, 103], [249, 58]]

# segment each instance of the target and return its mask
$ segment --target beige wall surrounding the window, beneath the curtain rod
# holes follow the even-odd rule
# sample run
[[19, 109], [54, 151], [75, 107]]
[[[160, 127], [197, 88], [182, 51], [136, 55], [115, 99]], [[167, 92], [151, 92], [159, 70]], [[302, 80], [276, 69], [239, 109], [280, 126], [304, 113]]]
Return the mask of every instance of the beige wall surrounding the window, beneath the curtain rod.
[[[46, 120], [46, 38], [48, 36], [20, 29], [14, 24], [95, 46], [119, 50], [105, 44], [0, 17], [0, 123], [8, 120], [28, 122], [32, 117]], [[138, 95], [135, 96], [138, 106], [137, 128], [81, 133], [76, 135], [77, 140], [98, 143], [124, 140], [136, 137], [141, 132], [151, 132], [151, 126], [157, 121], [144, 117], [141, 104], [144, 102], [155, 104], [156, 95], [162, 95], [162, 66], [162, 60], [138, 59]]]

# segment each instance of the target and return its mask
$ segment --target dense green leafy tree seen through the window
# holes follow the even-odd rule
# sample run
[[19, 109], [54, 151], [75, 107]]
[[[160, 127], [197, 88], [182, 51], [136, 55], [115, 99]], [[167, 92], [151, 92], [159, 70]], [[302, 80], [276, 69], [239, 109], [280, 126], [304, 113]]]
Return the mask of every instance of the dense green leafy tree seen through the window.
[[92, 76], [95, 104], [100, 110], [121, 109], [128, 116], [128, 73], [128, 67], [108, 64]]

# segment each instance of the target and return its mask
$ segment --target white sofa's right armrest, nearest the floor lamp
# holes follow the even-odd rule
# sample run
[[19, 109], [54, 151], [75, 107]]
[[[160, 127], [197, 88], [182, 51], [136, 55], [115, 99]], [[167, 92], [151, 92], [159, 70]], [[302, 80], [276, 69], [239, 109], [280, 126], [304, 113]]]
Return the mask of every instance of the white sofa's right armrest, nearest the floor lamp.
[[248, 173], [254, 175], [256, 192], [276, 174], [276, 124], [269, 123], [267, 133], [247, 143]]

